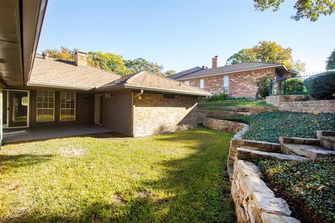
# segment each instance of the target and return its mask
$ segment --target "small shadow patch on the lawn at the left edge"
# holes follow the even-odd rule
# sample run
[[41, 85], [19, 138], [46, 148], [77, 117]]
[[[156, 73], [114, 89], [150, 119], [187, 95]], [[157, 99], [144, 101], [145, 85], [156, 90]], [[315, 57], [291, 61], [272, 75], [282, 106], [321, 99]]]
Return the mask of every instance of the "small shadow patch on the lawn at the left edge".
[[47, 162], [53, 155], [0, 155], [0, 173], [19, 167], [33, 166], [40, 162]]

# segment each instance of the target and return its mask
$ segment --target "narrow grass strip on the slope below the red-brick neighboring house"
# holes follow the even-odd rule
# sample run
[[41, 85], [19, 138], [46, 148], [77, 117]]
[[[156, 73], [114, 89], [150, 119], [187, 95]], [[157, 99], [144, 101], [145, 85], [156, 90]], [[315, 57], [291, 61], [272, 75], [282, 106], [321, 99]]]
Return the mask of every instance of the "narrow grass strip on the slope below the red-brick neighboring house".
[[214, 106], [229, 106], [229, 107], [272, 107], [264, 100], [215, 100], [198, 102], [198, 108], [214, 107]]

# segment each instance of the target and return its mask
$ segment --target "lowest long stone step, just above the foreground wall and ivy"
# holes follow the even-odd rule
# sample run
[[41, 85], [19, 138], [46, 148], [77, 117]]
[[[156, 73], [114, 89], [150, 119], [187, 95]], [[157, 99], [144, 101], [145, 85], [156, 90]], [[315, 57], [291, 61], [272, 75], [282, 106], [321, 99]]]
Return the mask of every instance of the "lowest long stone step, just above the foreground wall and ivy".
[[305, 157], [298, 155], [285, 155], [281, 153], [267, 153], [264, 151], [254, 151], [248, 148], [237, 148], [238, 160], [255, 160], [255, 159], [270, 159], [270, 160], [306, 160]]

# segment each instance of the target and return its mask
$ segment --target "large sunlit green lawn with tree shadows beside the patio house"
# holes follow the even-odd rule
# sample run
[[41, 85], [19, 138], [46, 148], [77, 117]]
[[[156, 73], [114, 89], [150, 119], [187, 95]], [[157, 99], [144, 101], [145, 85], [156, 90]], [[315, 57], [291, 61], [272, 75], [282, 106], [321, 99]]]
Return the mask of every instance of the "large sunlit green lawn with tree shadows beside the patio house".
[[0, 222], [234, 222], [232, 136], [197, 128], [3, 146]]

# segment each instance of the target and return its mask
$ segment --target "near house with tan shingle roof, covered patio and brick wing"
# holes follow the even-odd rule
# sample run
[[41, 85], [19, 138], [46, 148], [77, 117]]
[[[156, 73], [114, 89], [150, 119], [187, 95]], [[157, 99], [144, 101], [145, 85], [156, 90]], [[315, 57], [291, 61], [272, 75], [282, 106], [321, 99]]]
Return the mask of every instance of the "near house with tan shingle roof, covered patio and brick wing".
[[6, 128], [73, 124], [103, 125], [131, 137], [185, 130], [197, 125], [198, 96], [207, 91], [139, 72], [121, 77], [75, 62], [36, 56], [27, 86], [3, 90]]

